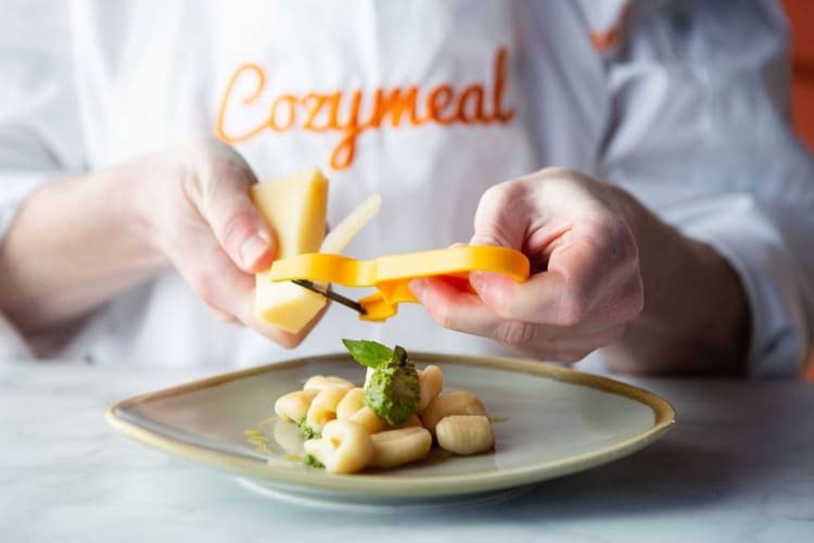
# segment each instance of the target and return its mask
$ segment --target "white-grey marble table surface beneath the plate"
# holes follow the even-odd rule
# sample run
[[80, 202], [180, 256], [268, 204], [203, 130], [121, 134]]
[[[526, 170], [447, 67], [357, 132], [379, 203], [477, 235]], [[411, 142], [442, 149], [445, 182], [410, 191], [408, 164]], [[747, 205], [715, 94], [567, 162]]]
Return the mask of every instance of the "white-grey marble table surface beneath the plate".
[[488, 505], [338, 512], [260, 496], [111, 429], [116, 400], [212, 374], [0, 365], [0, 541], [814, 541], [814, 387], [623, 379], [678, 422], [615, 463]]

